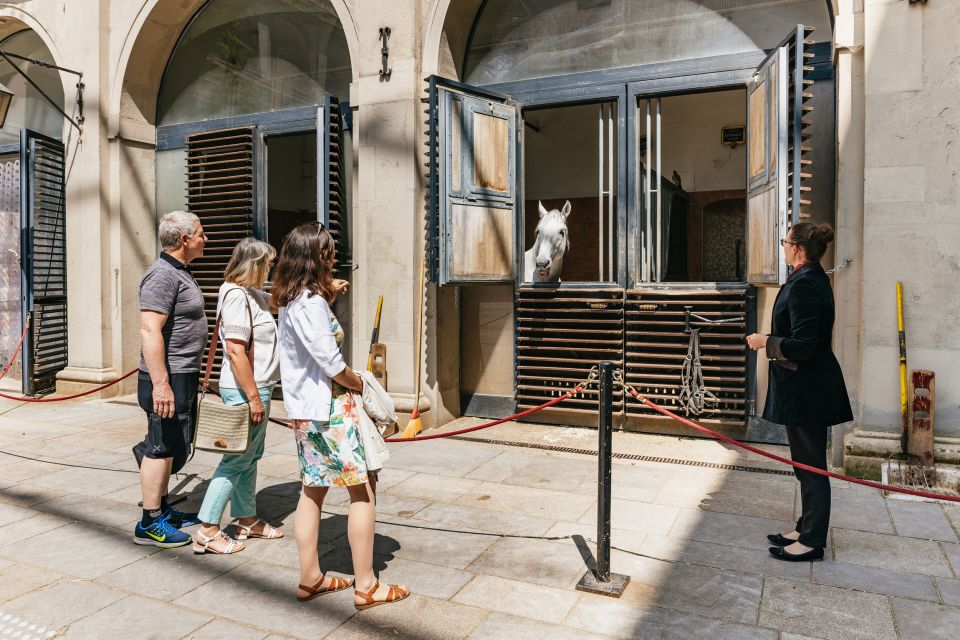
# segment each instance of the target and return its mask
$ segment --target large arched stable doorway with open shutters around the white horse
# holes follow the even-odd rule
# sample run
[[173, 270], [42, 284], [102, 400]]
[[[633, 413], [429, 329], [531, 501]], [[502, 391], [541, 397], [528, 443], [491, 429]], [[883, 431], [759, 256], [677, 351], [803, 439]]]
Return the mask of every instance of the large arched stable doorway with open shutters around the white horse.
[[[690, 306], [737, 319], [701, 327], [717, 401], [698, 417], [765, 439], [757, 365], [743, 336], [785, 277], [777, 240], [800, 219], [834, 216], [829, 3], [466, 0], [450, 3], [444, 36], [437, 68], [455, 77], [431, 84], [435, 273], [441, 284], [487, 282], [461, 289], [467, 411], [535, 406], [601, 359], [621, 363], [649, 397], [679, 407]], [[515, 148], [497, 147], [494, 128], [478, 126], [483, 112], [499, 113], [501, 129], [516, 132]], [[483, 157], [451, 166], [454, 149]], [[466, 193], [474, 176], [464, 171], [486, 175], [475, 167], [491, 156], [511, 188]], [[698, 216], [727, 199], [747, 212], [731, 218], [739, 229], [727, 230], [742, 240], [742, 275], [708, 277], [714, 244]], [[560, 280], [527, 282], [523, 252], [534, 242], [538, 204], [566, 201], [570, 253]], [[456, 237], [465, 228], [457, 216], [492, 219], [503, 215], [497, 210], [512, 213], [512, 244], [502, 231]], [[450, 277], [458, 243], [508, 246], [512, 259], [495, 277]], [[717, 251], [734, 257], [736, 271], [740, 249], [727, 249]], [[497, 371], [474, 366], [493, 363], [494, 354]], [[566, 406], [573, 404], [579, 411], [551, 419], [595, 422], [595, 395]], [[660, 428], [642, 408], [620, 408], [623, 426]]]

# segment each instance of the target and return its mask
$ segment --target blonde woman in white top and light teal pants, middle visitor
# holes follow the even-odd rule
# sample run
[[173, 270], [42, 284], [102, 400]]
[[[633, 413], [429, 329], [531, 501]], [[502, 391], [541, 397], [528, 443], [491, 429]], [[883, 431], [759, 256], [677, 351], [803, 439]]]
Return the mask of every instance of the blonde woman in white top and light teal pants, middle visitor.
[[[217, 313], [224, 348], [220, 395], [226, 404], [249, 402], [250, 447], [245, 453], [225, 455], [210, 480], [200, 507], [202, 523], [194, 536], [194, 553], [237, 553], [247, 538], [282, 538], [283, 533], [257, 517], [257, 462], [263, 457], [270, 396], [280, 379], [277, 325], [270, 313], [263, 284], [277, 252], [266, 242], [244, 238], [237, 244], [224, 272]], [[251, 327], [250, 318], [253, 317]], [[252, 329], [252, 335], [251, 335]], [[253, 341], [253, 366], [248, 344]], [[220, 528], [227, 500], [236, 518], [237, 539]]]

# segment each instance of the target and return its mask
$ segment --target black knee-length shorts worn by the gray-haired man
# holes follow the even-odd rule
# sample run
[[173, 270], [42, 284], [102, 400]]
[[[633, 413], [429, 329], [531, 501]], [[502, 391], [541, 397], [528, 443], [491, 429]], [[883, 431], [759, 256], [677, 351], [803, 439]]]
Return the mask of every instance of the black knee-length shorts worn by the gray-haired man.
[[[150, 374], [141, 371], [137, 377], [137, 401], [147, 413], [147, 435], [134, 447], [138, 462], [140, 455], [147, 458], [173, 458], [174, 471], [186, 464], [197, 422], [197, 385], [200, 373], [171, 373], [174, 416], [161, 418], [153, 412], [153, 383]], [[139, 451], [138, 451], [139, 449]]]

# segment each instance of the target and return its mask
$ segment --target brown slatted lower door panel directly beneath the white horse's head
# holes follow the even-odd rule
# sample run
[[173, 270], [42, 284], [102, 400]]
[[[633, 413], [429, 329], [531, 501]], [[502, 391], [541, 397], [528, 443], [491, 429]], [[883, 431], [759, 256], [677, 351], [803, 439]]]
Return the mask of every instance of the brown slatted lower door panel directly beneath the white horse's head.
[[[557, 397], [601, 360], [623, 365], [623, 290], [520, 288], [516, 294], [517, 408]], [[557, 410], [596, 413], [596, 385]], [[623, 390], [614, 389], [615, 412]]]

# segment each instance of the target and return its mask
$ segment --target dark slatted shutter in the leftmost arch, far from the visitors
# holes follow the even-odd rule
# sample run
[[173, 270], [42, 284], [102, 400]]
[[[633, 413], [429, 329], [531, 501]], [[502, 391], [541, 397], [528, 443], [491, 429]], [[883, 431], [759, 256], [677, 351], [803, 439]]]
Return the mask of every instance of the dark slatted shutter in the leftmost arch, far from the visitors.
[[67, 251], [63, 143], [20, 132], [23, 392], [53, 391], [67, 366]]

